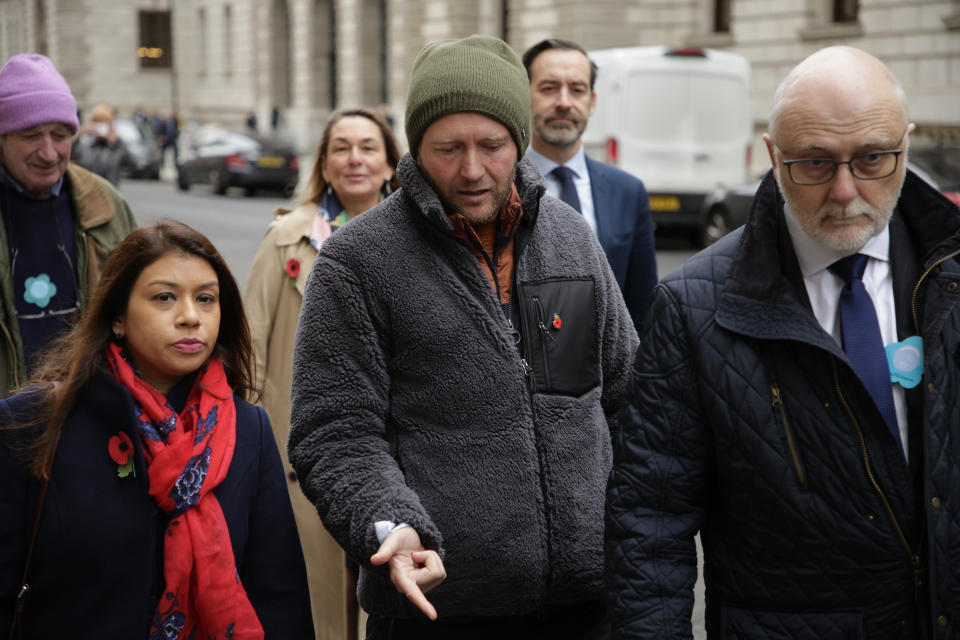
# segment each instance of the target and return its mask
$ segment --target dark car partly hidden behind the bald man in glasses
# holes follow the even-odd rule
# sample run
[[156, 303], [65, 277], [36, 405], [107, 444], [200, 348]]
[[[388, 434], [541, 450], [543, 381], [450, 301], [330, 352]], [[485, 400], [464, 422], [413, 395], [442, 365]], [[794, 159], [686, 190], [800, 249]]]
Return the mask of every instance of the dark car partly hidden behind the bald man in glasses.
[[[907, 167], [960, 205], [960, 146], [923, 142], [911, 145]], [[752, 182], [719, 188], [707, 196], [700, 225], [701, 246], [710, 246], [747, 221], [759, 186], [760, 182]]]

